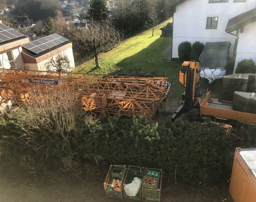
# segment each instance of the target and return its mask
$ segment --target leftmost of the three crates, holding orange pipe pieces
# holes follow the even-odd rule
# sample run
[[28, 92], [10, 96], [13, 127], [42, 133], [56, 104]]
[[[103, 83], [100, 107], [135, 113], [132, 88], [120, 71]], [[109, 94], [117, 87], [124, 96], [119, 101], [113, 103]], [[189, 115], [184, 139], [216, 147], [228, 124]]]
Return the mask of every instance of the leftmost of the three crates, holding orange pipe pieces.
[[[112, 176], [112, 171], [114, 168], [121, 169], [122, 172], [119, 173], [119, 175], [113, 175]], [[105, 193], [107, 197], [114, 197], [114, 198], [123, 198], [123, 184], [124, 184], [124, 176], [126, 174], [126, 166], [120, 166], [120, 165], [110, 165], [109, 171], [106, 176], [106, 180], [103, 183]], [[113, 180], [122, 180], [120, 187], [115, 187], [112, 182]]]

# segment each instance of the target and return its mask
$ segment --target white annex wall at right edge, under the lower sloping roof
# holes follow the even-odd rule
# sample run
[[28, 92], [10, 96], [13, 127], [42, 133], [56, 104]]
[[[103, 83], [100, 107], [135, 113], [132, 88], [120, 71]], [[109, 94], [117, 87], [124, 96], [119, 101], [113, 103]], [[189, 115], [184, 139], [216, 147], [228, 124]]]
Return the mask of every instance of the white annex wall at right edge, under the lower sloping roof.
[[251, 59], [256, 62], [256, 22], [244, 27], [243, 33], [239, 33], [237, 54], [234, 70], [239, 61]]

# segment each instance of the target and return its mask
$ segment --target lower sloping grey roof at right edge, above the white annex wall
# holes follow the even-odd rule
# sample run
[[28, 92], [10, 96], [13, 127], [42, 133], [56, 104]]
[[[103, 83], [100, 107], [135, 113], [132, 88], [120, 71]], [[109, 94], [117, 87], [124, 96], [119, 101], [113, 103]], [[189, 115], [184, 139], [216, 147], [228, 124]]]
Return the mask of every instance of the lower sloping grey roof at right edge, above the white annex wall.
[[231, 18], [226, 26], [226, 32], [233, 32], [256, 22], [256, 8]]

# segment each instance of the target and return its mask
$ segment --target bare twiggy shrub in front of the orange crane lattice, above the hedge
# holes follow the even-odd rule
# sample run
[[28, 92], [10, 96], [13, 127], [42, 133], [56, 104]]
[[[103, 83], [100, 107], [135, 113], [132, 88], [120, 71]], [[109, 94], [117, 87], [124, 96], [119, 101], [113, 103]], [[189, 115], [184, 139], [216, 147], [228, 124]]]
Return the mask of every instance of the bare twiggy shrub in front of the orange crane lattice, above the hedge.
[[[61, 86], [37, 85], [26, 93], [28, 102], [13, 111], [19, 128], [13, 138], [36, 153], [39, 166], [56, 158], [65, 166], [74, 157], [78, 139], [84, 136], [85, 114], [79, 105], [79, 92]], [[33, 171], [37, 168], [34, 165]]]

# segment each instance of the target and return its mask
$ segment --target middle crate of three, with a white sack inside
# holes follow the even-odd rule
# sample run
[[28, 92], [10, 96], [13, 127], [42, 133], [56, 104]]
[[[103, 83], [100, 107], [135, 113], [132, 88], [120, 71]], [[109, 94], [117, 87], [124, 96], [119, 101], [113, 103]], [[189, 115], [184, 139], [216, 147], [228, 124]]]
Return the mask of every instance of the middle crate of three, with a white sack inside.
[[[124, 179], [123, 190], [124, 190], [125, 184], [131, 183], [134, 177], [138, 177], [142, 180], [142, 177], [144, 175], [144, 169], [145, 169], [144, 167], [128, 166], [128, 169], [126, 171], [126, 176]], [[128, 196], [124, 191], [124, 198], [141, 201], [141, 187], [135, 197]]]

